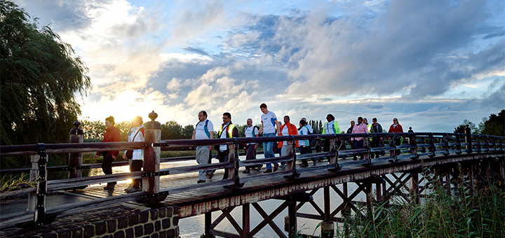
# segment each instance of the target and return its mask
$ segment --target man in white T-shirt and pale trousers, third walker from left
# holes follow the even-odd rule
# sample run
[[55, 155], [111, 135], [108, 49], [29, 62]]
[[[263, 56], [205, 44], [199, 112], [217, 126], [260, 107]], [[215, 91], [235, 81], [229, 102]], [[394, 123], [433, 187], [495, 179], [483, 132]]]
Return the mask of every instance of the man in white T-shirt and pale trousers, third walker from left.
[[[207, 119], [207, 112], [201, 111], [198, 113], [198, 123], [196, 123], [195, 131], [191, 139], [213, 139], [214, 138], [214, 125]], [[208, 165], [210, 151], [212, 146], [196, 146], [196, 162], [198, 165]], [[197, 183], [206, 182], [206, 174], [209, 179], [212, 179], [214, 173], [212, 170], [203, 170], [198, 173]]]

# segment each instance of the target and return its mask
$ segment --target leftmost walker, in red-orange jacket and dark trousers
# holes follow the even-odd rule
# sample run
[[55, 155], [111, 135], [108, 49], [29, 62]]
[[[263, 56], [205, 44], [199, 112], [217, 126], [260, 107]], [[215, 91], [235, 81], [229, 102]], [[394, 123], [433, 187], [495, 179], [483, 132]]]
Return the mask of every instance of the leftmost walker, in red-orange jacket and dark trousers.
[[[121, 141], [121, 133], [119, 130], [114, 127], [114, 117], [109, 116], [105, 118], [105, 133], [104, 139], [102, 142], [119, 142]], [[100, 151], [96, 153], [96, 158], [99, 158], [100, 155], [103, 156], [102, 162], [102, 171], [104, 174], [112, 174], [112, 162], [116, 160], [116, 157], [119, 155], [119, 151]], [[114, 190], [114, 186], [116, 186], [117, 182], [107, 183], [104, 190]]]

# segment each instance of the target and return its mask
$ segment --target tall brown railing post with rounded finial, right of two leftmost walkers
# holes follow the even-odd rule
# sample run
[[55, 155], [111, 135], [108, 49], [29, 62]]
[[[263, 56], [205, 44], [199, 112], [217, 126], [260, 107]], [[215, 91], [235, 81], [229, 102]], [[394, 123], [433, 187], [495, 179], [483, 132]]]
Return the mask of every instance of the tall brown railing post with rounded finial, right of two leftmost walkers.
[[[152, 145], [158, 143], [161, 139], [161, 123], [154, 121], [158, 118], [158, 114], [152, 111], [149, 113], [150, 122], [145, 123], [144, 126], [144, 141], [146, 144]], [[160, 153], [159, 146], [147, 146], [144, 148], [144, 172], [155, 173], [160, 170]], [[159, 176], [146, 176], [142, 178], [142, 191], [149, 194], [159, 193]], [[165, 200], [166, 196], [151, 197], [144, 202], [154, 204], [156, 202]]]

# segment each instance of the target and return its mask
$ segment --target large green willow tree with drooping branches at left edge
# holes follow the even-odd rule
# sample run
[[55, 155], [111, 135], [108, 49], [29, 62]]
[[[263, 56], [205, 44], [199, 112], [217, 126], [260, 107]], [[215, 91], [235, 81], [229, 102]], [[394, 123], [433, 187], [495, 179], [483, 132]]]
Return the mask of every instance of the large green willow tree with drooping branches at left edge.
[[91, 89], [72, 46], [24, 9], [0, 0], [2, 145], [64, 143], [81, 113], [76, 96]]

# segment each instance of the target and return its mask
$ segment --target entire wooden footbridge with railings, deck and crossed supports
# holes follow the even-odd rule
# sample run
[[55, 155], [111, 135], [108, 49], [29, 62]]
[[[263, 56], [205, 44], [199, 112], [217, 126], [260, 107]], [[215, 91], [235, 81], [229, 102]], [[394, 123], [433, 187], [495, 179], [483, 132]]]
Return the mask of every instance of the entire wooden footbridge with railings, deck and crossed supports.
[[[468, 179], [470, 188], [473, 181], [501, 181], [504, 184], [504, 151], [505, 137], [494, 137], [480, 134], [436, 133], [436, 132], [406, 132], [406, 133], [377, 133], [377, 134], [337, 134], [337, 135], [306, 135], [288, 137], [256, 137], [208, 140], [168, 140], [160, 141], [161, 125], [156, 122], [156, 113], [150, 113], [152, 121], [145, 123], [144, 142], [116, 142], [116, 143], [82, 143], [82, 130], [79, 122], [71, 131], [69, 144], [38, 144], [25, 146], [1, 146], [0, 156], [32, 155], [32, 169], [2, 170], [6, 173], [30, 173], [30, 178], [36, 181], [36, 188], [27, 188], [22, 193], [29, 194], [27, 211], [16, 214], [2, 214], [0, 228], [8, 228], [15, 224], [31, 224], [43, 226], [54, 219], [76, 214], [96, 207], [107, 207], [112, 204], [135, 201], [140, 204], [157, 204], [157, 206], [177, 206], [177, 216], [187, 218], [205, 214], [205, 230], [203, 237], [254, 237], [262, 228], [269, 225], [278, 237], [286, 237], [273, 218], [284, 209], [288, 209], [287, 231], [297, 232], [297, 217], [311, 218], [322, 221], [321, 230], [325, 237], [332, 236], [333, 223], [341, 222], [342, 216], [351, 211], [356, 212], [353, 199], [358, 193], [367, 194], [367, 205], [373, 200], [384, 200], [391, 195], [403, 197], [410, 202], [419, 202], [423, 196], [423, 171], [431, 169], [431, 176], [435, 176], [450, 190], [450, 181], [458, 176]], [[352, 137], [363, 137], [364, 148], [354, 150], [336, 149], [336, 141], [345, 141]], [[390, 144], [370, 148], [368, 139], [372, 137], [389, 137]], [[408, 143], [394, 144], [395, 138], [405, 137]], [[329, 140], [330, 151], [308, 155], [299, 155], [293, 148], [293, 141], [302, 139]], [[238, 160], [238, 145], [248, 142], [262, 143], [265, 141], [288, 141], [288, 155], [276, 158], [257, 160]], [[170, 167], [160, 169], [161, 163], [194, 160], [186, 158], [160, 158], [161, 150], [187, 146], [211, 146], [227, 144], [229, 146], [229, 161], [211, 165], [194, 165], [184, 167]], [[118, 151], [126, 149], [144, 150], [144, 168], [142, 172], [111, 174], [105, 176], [81, 177], [82, 169], [100, 168], [100, 164], [82, 165], [82, 153], [90, 151]], [[371, 153], [382, 153], [379, 158], [372, 159]], [[69, 165], [60, 167], [46, 167], [48, 154], [69, 153]], [[363, 160], [351, 160], [353, 155], [363, 155]], [[297, 162], [307, 158], [328, 158], [327, 162], [301, 168]], [[264, 165], [269, 162], [285, 162], [286, 167], [277, 172], [264, 174], [251, 172], [239, 173], [245, 166]], [[128, 165], [128, 162], [114, 162], [113, 166]], [[209, 169], [228, 169], [229, 178], [221, 180], [214, 177], [206, 183], [196, 183], [195, 173]], [[69, 171], [69, 179], [47, 181], [47, 173], [53, 171]], [[393, 179], [391, 179], [393, 178]], [[126, 179], [142, 179], [142, 192], [126, 194], [121, 185], [114, 191], [103, 190], [102, 187], [90, 187], [98, 183], [122, 181]], [[353, 182], [358, 189], [349, 194], [347, 183]], [[342, 184], [342, 189], [337, 188]], [[408, 186], [410, 184], [410, 186]], [[82, 189], [86, 188], [86, 189]], [[375, 188], [375, 189], [374, 189]], [[323, 190], [323, 204], [316, 204], [311, 195]], [[48, 192], [59, 190], [74, 190], [96, 197], [94, 200], [76, 204], [60, 204], [46, 207]], [[330, 190], [343, 200], [336, 209], [330, 209], [334, 201], [330, 197]], [[375, 195], [373, 191], [375, 190]], [[4, 196], [20, 191], [6, 192]], [[263, 200], [284, 200], [277, 209], [268, 213], [257, 203]], [[297, 210], [304, 206], [314, 207], [317, 214], [302, 214]], [[255, 228], [250, 228], [250, 205], [264, 218]], [[230, 215], [236, 207], [242, 208], [241, 224]], [[212, 212], [220, 212], [220, 216], [212, 221]], [[236, 232], [215, 230], [216, 226], [227, 219]]]

